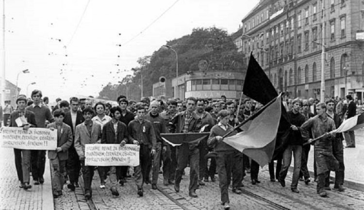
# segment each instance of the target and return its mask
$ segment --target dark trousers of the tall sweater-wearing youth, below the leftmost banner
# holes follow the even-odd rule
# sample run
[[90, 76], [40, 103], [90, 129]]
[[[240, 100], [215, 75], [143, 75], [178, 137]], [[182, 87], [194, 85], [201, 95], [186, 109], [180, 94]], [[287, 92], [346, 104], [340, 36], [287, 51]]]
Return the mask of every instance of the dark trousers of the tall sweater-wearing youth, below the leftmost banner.
[[43, 178], [44, 168], [46, 165], [46, 150], [32, 150], [31, 160], [33, 180]]

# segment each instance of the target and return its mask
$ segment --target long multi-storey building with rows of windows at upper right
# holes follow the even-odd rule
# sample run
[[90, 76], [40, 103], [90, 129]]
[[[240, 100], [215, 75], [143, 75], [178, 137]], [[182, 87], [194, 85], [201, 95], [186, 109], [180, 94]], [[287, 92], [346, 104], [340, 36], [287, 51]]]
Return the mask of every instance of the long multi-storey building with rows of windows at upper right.
[[359, 100], [364, 93], [364, 2], [261, 0], [242, 20], [242, 51], [250, 52], [272, 84], [290, 97], [325, 95]]

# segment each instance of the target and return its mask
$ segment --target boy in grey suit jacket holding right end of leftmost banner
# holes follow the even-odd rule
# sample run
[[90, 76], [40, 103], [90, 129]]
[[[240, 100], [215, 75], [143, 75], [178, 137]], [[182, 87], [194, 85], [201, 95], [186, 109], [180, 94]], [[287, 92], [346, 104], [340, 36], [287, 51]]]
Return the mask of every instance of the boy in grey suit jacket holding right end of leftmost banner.
[[50, 130], [57, 130], [57, 148], [56, 150], [48, 151], [48, 158], [50, 159], [50, 165], [53, 168], [52, 172], [52, 187], [53, 197], [61, 196], [63, 185], [65, 184], [65, 168], [66, 161], [68, 159], [68, 149], [72, 145], [72, 130], [69, 125], [63, 122], [65, 118], [65, 112], [61, 109], [57, 109], [53, 112], [55, 121], [48, 124], [47, 128]]

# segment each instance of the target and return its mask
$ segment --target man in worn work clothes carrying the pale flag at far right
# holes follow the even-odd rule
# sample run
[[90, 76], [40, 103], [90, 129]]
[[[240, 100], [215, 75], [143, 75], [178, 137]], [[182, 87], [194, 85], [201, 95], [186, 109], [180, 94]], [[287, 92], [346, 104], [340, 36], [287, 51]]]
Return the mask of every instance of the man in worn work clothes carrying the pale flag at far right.
[[301, 134], [308, 143], [312, 143], [313, 138], [323, 135], [322, 138], [314, 142], [314, 157], [317, 166], [317, 194], [326, 197], [325, 178], [329, 176], [330, 170], [336, 171], [339, 166], [332, 154], [332, 138], [336, 134], [330, 133], [336, 129], [336, 126], [335, 122], [327, 117], [324, 103], [316, 105], [316, 112], [316, 116], [303, 123]]

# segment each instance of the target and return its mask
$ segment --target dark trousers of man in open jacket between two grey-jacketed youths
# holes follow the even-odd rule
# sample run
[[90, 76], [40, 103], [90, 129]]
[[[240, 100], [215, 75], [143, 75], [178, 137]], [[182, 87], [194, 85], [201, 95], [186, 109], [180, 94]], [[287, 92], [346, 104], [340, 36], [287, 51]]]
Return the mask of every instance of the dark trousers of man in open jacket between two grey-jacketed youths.
[[81, 163], [76, 149], [72, 146], [68, 149], [67, 174], [70, 183], [78, 183]]

